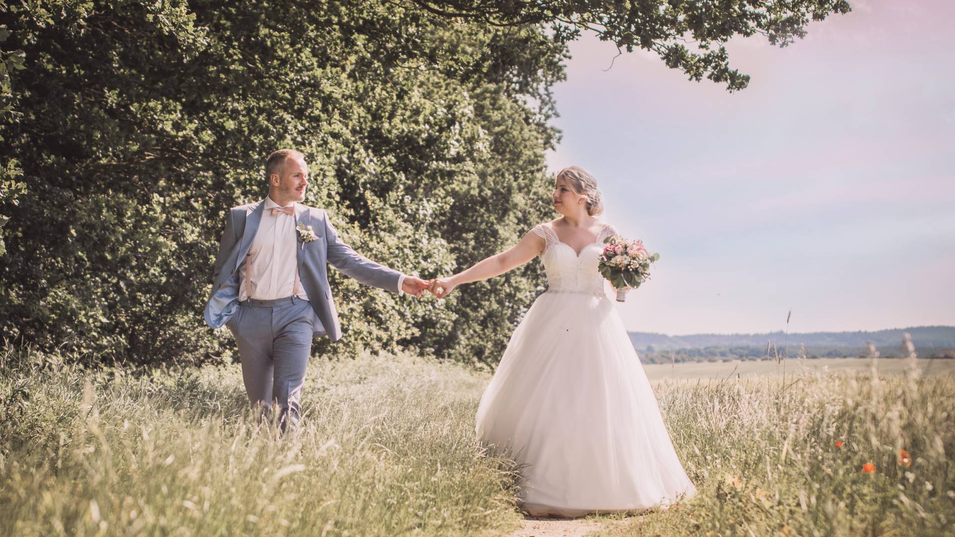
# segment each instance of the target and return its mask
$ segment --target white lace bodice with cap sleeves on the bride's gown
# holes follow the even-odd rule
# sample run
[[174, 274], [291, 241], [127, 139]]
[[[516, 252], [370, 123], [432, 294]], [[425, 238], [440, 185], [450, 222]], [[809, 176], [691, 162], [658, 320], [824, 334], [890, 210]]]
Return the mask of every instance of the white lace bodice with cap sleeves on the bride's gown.
[[541, 260], [549, 291], [604, 294], [604, 277], [597, 270], [597, 258], [603, 250], [604, 239], [617, 234], [613, 226], [605, 225], [597, 239], [579, 254], [561, 242], [550, 224], [535, 226], [532, 231], [544, 240]]

